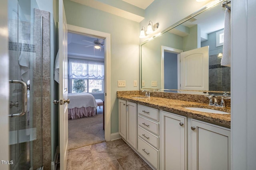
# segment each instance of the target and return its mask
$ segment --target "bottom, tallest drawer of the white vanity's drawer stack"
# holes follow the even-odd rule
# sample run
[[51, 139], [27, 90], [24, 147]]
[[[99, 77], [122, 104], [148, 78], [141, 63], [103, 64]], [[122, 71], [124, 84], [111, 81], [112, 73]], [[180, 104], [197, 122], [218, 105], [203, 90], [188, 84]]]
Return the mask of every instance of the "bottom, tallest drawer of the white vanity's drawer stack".
[[159, 167], [159, 151], [138, 138], [138, 152], [156, 169]]

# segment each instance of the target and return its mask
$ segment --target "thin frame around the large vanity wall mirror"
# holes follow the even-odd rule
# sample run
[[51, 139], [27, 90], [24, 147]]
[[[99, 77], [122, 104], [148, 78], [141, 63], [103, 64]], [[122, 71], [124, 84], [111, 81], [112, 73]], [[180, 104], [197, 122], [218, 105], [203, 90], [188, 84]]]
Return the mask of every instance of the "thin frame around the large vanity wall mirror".
[[[180, 21], [178, 21], [178, 22], [176, 22], [176, 23], [174, 23], [173, 25], [171, 25], [170, 27], [168, 27], [168, 28], [166, 28], [166, 29], [164, 29], [163, 31], [161, 31], [160, 33], [156, 33], [155, 35], [153, 35], [152, 37], [150, 37], [150, 38], [148, 38], [148, 39], [146, 39], [145, 41], [143, 41], [142, 43], [140, 43], [140, 90], [153, 90], [153, 91], [158, 91], [158, 90], [160, 90], [160, 91], [164, 91], [164, 92], [166, 92], [166, 91], [184, 91], [184, 92], [186, 92], [186, 91], [194, 91], [194, 92], [205, 92], [205, 93], [207, 93], [207, 92], [209, 92], [209, 93], [229, 93], [230, 94], [230, 92], [225, 92], [225, 91], [202, 91], [202, 90], [180, 90], [180, 89], [154, 89], [154, 88], [142, 88], [142, 45], [144, 45], [145, 43], [147, 43], [147, 42], [149, 42], [149, 41], [151, 41], [151, 40], [154, 40], [156, 37], [159, 37], [160, 35], [162, 35], [163, 33], [166, 33], [167, 31], [170, 31], [171, 29], [173, 29], [174, 27], [176, 27], [176, 26], [178, 26], [178, 25], [180, 25], [180, 24], [182, 24], [182, 23], [184, 23], [184, 22], [186, 22], [186, 21], [188, 21], [188, 20], [190, 20], [191, 18], [193, 18], [193, 17], [195, 17], [195, 16], [197, 16], [198, 14], [201, 14], [202, 12], [204, 12], [204, 11], [206, 11], [206, 10], [208, 10], [208, 9], [210, 9], [210, 8], [212, 8], [212, 7], [214, 7], [214, 6], [217, 6], [217, 5], [220, 5], [222, 2], [224, 2], [225, 0], [220, 0], [220, 1], [213, 1], [213, 2], [210, 2], [210, 3], [208, 3], [208, 4], [206, 4], [204, 7], [202, 7], [202, 8], [200, 8], [199, 10], [197, 10], [196, 12], [194, 12], [194, 13], [192, 13], [192, 14], [190, 14], [189, 16], [187, 16], [187, 17], [185, 17], [185, 18], [183, 18], [182, 20], [180, 20]], [[224, 8], [224, 7], [223, 7]]]

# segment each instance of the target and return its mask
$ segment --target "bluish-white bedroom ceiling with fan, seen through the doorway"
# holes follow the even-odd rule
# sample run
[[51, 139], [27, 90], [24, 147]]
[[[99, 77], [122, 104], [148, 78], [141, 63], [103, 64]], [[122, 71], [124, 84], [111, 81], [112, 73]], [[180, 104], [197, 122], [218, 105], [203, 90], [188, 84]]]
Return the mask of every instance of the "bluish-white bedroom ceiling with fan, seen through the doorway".
[[104, 45], [101, 49], [94, 48], [94, 41], [104, 44], [104, 39], [87, 35], [68, 33], [68, 56], [104, 61]]

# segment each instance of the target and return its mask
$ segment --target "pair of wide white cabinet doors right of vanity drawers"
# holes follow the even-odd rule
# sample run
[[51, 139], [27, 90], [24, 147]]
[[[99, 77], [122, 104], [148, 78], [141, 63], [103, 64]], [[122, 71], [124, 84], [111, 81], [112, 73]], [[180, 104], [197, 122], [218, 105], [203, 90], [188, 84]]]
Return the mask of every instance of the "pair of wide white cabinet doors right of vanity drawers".
[[161, 170], [230, 170], [230, 129], [160, 111]]

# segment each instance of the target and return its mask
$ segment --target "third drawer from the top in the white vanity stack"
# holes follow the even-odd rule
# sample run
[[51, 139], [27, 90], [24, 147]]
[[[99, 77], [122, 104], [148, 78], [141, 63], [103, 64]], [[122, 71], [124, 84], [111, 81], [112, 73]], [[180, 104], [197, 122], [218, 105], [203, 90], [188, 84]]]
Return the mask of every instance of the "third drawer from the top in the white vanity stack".
[[159, 149], [159, 137], [149, 133], [148, 131], [138, 127], [138, 135], [146, 142], [150, 143], [153, 147]]

